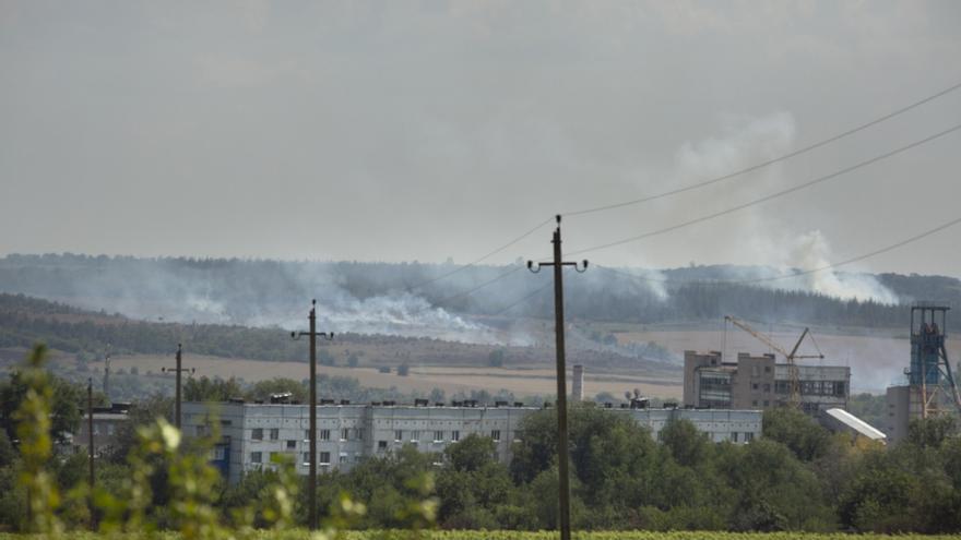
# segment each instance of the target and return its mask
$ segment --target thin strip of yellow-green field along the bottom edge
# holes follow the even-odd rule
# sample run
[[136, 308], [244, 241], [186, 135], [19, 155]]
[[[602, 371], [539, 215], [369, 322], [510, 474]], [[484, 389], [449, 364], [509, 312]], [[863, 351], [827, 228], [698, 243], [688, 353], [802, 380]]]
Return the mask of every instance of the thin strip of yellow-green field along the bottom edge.
[[[814, 533], [814, 532], [714, 532], [714, 531], [671, 531], [657, 532], [646, 530], [625, 531], [591, 531], [573, 532], [573, 538], [579, 540], [947, 540], [957, 539], [956, 536], [947, 535], [845, 535], [845, 533]], [[0, 540], [21, 540], [36, 538], [27, 535], [0, 533]], [[70, 532], [63, 538], [79, 540], [105, 540], [107, 538], [118, 540], [164, 539], [179, 540], [180, 535], [175, 532], [152, 535], [96, 535], [92, 532]], [[249, 537], [256, 540], [306, 540], [311, 538], [307, 530], [289, 531], [256, 531]], [[514, 530], [434, 530], [415, 535], [407, 530], [388, 531], [344, 531], [341, 537], [344, 540], [410, 540], [422, 538], [424, 540], [556, 540], [557, 531], [514, 531]]]

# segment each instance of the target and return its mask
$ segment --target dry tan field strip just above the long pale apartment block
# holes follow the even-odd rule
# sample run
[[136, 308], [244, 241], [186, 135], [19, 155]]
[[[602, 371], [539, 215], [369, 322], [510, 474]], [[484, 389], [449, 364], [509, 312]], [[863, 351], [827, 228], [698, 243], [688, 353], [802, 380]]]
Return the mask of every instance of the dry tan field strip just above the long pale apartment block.
[[[195, 368], [195, 376], [220, 376], [227, 379], [235, 376], [247, 382], [257, 382], [273, 377], [288, 377], [300, 381], [308, 376], [305, 362], [266, 362], [260, 360], [226, 359], [217, 357], [185, 357], [185, 365]], [[159, 373], [162, 367], [173, 367], [174, 359], [169, 356], [117, 356], [111, 359], [111, 369], [137, 367], [141, 373], [147, 371]], [[103, 370], [103, 362], [91, 364], [95, 370]], [[460, 391], [486, 389], [497, 392], [507, 389], [517, 396], [550, 395], [556, 393], [554, 370], [543, 364], [536, 368], [468, 368], [463, 365], [411, 365], [407, 376], [393, 373], [380, 373], [377, 368], [358, 367], [319, 367], [319, 372], [333, 376], [347, 376], [357, 379], [361, 386], [372, 388], [396, 387], [402, 392], [419, 391], [429, 393], [434, 388], [441, 388], [448, 395]], [[570, 386], [570, 382], [568, 382]], [[681, 387], [679, 381], [659, 377], [643, 377], [631, 374], [598, 373], [585, 375], [584, 394], [593, 396], [601, 392], [610, 392], [615, 396], [622, 395], [625, 391], [640, 388], [642, 393], [655, 397], [679, 398]]]

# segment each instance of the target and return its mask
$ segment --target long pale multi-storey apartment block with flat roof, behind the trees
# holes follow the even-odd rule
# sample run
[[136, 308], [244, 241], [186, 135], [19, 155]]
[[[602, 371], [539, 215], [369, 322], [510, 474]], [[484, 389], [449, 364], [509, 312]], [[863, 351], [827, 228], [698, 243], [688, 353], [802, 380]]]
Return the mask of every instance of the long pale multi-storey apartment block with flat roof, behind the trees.
[[[349, 469], [368, 456], [385, 454], [404, 445], [440, 453], [472, 433], [489, 436], [497, 458], [511, 459], [511, 443], [523, 439], [521, 421], [536, 407], [522, 404], [495, 406], [458, 403], [455, 406], [322, 404], [318, 415], [318, 455], [321, 471]], [[667, 422], [686, 419], [710, 440], [746, 443], [761, 434], [761, 413], [754, 410], [693, 410], [609, 408], [628, 415], [657, 437]], [[183, 433], [209, 436], [217, 428], [212, 463], [230, 482], [244, 472], [272, 467], [272, 456], [289, 455], [297, 472], [310, 464], [309, 406], [295, 404], [183, 404]]]

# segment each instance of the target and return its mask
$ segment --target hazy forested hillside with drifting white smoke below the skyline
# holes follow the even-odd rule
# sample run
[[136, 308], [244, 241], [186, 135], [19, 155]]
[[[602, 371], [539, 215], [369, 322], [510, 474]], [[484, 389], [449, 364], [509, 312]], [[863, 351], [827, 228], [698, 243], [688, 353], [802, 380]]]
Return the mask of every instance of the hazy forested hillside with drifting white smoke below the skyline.
[[[137, 319], [250, 326], [290, 326], [302, 319], [309, 299], [317, 298], [319, 313], [332, 329], [367, 334], [471, 332], [476, 329], [470, 320], [475, 316], [551, 313], [549, 273], [531, 275], [521, 272], [520, 263], [454, 272], [458, 268], [420, 263], [8, 255], [0, 259], [0, 291]], [[763, 267], [691, 266], [637, 271], [634, 276], [633, 271], [592, 267], [567, 279], [568, 312], [577, 319], [638, 323], [717, 320], [732, 313], [809, 324], [898, 327], [906, 320], [905, 305], [914, 300], [961, 301], [961, 281], [952, 277], [834, 275], [842, 285], [866, 281], [869, 290], [881, 291], [879, 297], [899, 301], [888, 304], [874, 298], [832, 298], [812, 292], [799, 278], [768, 279], [772, 273]], [[723, 283], [751, 279], [761, 280]]]

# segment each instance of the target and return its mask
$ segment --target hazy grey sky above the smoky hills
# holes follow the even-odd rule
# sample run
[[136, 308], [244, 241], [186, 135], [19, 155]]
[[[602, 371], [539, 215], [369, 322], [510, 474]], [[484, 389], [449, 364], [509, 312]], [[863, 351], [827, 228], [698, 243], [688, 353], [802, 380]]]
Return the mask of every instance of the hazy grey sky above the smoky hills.
[[[0, 0], [0, 253], [477, 257], [961, 82], [961, 2]], [[961, 91], [577, 250], [961, 123]], [[598, 264], [847, 259], [961, 216], [961, 132]], [[961, 276], [961, 226], [857, 266]], [[549, 228], [493, 262], [549, 253]]]

